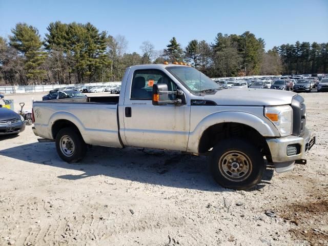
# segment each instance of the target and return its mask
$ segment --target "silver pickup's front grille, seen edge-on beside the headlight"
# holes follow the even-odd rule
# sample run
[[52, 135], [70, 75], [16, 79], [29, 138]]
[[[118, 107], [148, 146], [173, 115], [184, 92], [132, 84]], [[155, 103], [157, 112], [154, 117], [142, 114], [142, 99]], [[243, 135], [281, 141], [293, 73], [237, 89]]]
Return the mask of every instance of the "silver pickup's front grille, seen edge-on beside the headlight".
[[306, 108], [304, 98], [296, 95], [292, 100], [293, 109], [293, 135], [301, 136], [306, 125]]

